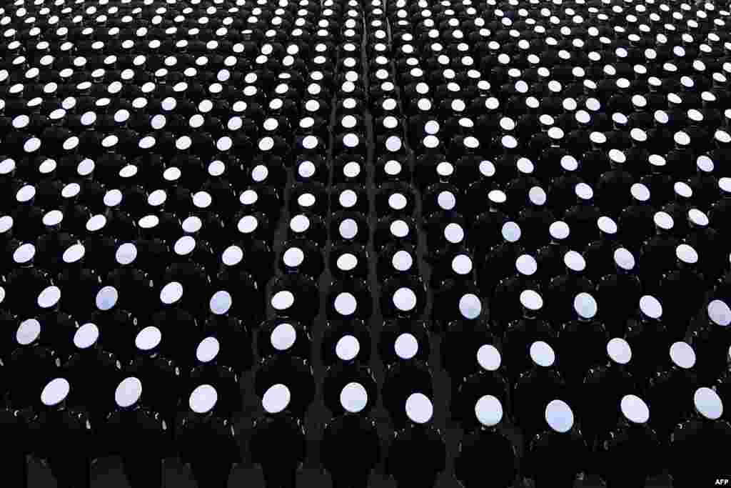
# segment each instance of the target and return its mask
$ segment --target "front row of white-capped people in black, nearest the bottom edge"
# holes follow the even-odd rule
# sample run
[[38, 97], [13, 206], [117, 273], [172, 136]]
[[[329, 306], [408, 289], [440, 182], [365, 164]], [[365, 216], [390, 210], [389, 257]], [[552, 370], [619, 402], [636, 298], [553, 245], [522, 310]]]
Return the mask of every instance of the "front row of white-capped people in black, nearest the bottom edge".
[[[147, 390], [138, 378], [118, 383], [115, 408], [99, 424], [92, 424], [83, 410], [69, 407], [72, 390], [68, 380], [55, 378], [33, 408], [0, 410], [4, 433], [15, 439], [2, 448], [7, 486], [27, 486], [26, 454], [31, 453], [47, 460], [64, 488], [90, 487], [91, 459], [107, 454], [121, 456], [134, 488], [161, 487], [162, 459], [176, 454], [190, 466], [198, 486], [206, 488], [226, 487], [232, 467], [240, 462], [240, 432], [219, 411], [220, 393], [210, 384], [194, 388], [173, 425], [148, 407]], [[267, 388], [261, 398], [264, 416], [251, 429], [251, 460], [262, 466], [268, 488], [295, 487], [306, 459], [303, 421], [289, 411], [295, 395], [284, 383]], [[387, 454], [369, 416], [373, 399], [366, 388], [347, 383], [338, 397], [344, 413], [325, 425], [319, 443], [322, 466], [334, 487], [366, 487], [371, 470], [382, 466], [398, 487], [434, 486], [447, 453], [442, 433], [433, 425], [428, 396], [408, 394], [402, 405], [406, 422], [390, 439]], [[697, 486], [699, 476], [722, 472], [722, 446], [731, 438], [731, 425], [721, 420], [724, 405], [712, 388], [697, 388], [689, 399], [677, 399], [687, 400], [692, 408], [673, 426], [669, 441], [659, 440], [651, 424], [664, 405], [635, 394], [597, 405], [613, 413], [613, 422], [590, 449], [570, 402], [541, 401], [533, 412], [537, 431], [518, 446], [507, 432], [510, 420], [500, 399], [483, 394], [472, 405], [477, 427], [461, 442], [455, 476], [466, 488], [485, 483], [510, 487], [520, 468], [537, 487], [572, 487], [578, 473], [592, 473], [609, 487], [643, 488], [649, 476], [667, 468], [674, 487]]]

